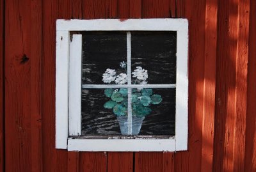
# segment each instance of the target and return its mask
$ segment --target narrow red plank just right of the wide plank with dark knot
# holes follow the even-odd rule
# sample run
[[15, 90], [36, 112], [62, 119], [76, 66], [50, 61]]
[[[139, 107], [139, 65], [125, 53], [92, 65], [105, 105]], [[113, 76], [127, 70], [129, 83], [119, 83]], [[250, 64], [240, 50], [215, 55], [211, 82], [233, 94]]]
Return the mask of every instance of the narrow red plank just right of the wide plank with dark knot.
[[31, 1], [31, 171], [43, 171], [42, 160], [42, 1]]

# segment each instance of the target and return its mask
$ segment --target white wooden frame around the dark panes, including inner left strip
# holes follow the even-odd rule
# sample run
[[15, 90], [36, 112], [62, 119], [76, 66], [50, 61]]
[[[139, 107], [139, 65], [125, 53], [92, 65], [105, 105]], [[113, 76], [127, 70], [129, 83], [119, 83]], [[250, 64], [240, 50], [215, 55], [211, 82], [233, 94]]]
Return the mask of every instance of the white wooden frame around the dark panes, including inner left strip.
[[[115, 139], [115, 137], [112, 137], [111, 139], [85, 139], [83, 137], [75, 137], [81, 134], [82, 35], [72, 35], [72, 38], [70, 38], [70, 31], [177, 31], [177, 81], [176, 84], [166, 84], [166, 86], [164, 87], [176, 87], [175, 136], [166, 139]], [[128, 41], [127, 45], [129, 45]], [[127, 53], [127, 55], [129, 56], [129, 52]], [[116, 87], [120, 88], [120, 85]], [[122, 87], [127, 88], [127, 85], [122, 85]], [[172, 152], [187, 150], [188, 20], [57, 20], [56, 148], [68, 149], [70, 151], [118, 152]]]

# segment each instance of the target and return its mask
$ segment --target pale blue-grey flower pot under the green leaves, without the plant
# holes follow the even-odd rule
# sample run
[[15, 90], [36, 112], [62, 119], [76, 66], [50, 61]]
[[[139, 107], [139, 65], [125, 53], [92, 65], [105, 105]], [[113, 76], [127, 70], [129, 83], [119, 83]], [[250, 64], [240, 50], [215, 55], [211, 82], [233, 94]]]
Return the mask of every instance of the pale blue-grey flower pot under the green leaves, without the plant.
[[[127, 115], [118, 116], [116, 118], [118, 120], [122, 135], [130, 135], [128, 134]], [[138, 118], [137, 116], [132, 116], [132, 135], [138, 135], [140, 133], [141, 125], [144, 118], [145, 117]]]

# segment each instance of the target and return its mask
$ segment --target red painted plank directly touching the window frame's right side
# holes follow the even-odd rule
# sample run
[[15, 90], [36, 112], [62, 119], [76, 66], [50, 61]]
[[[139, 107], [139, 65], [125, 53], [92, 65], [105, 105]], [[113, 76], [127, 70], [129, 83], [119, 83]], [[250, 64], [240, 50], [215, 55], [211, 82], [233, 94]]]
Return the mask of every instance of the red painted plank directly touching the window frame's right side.
[[181, 14], [185, 9], [181, 17], [189, 20], [189, 136], [188, 151], [175, 153], [175, 171], [200, 171], [204, 117], [205, 1], [179, 3], [177, 12]]

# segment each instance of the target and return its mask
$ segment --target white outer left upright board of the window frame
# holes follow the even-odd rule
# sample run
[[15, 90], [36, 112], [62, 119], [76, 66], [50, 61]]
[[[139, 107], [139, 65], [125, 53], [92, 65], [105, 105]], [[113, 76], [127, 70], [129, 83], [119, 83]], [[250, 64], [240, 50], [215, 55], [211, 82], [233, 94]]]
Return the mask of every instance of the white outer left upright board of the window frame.
[[56, 33], [56, 148], [67, 149], [69, 32]]

